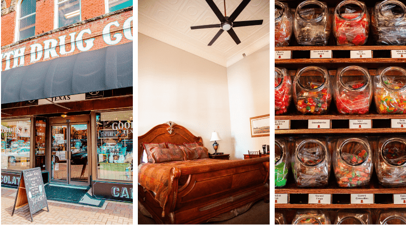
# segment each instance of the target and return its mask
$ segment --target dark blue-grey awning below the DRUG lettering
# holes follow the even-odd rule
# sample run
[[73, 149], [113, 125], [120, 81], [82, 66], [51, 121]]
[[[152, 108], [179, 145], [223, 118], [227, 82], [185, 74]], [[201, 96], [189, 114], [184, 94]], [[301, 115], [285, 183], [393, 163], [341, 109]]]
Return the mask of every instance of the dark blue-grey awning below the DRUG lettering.
[[2, 71], [2, 104], [132, 86], [132, 42]]

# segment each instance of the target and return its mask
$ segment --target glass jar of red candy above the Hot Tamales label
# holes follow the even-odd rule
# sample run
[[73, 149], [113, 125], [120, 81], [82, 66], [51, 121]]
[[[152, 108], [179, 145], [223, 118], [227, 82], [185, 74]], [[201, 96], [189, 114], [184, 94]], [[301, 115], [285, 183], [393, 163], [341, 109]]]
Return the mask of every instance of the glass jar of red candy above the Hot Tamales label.
[[364, 2], [344, 0], [334, 10], [333, 32], [337, 45], [362, 45], [369, 32], [369, 15]]

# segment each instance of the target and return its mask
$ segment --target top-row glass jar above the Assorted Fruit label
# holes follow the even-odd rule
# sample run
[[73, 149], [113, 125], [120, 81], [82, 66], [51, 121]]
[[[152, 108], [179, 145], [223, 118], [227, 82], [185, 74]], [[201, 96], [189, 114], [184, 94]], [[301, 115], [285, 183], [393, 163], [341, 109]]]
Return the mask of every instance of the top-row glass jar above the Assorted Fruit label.
[[306, 0], [295, 12], [293, 31], [302, 45], [327, 45], [331, 32], [331, 17], [326, 3]]

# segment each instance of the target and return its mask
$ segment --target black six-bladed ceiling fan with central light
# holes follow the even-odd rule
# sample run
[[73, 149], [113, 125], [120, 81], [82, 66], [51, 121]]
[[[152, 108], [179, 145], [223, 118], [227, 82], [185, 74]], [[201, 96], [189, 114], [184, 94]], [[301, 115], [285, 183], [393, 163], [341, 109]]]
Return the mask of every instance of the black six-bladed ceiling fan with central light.
[[220, 19], [221, 23], [220, 24], [211, 24], [211, 25], [200, 25], [200, 26], [190, 26], [190, 29], [201, 29], [201, 28], [213, 28], [213, 27], [221, 27], [219, 32], [213, 37], [213, 39], [210, 41], [208, 45], [212, 45], [217, 38], [223, 33], [224, 30], [226, 30], [230, 36], [236, 41], [237, 44], [241, 43], [240, 39], [238, 38], [236, 32], [233, 30], [233, 27], [238, 27], [238, 26], [252, 26], [252, 25], [261, 25], [263, 20], [246, 20], [246, 21], [234, 21], [237, 16], [243, 11], [243, 9], [247, 6], [248, 3], [250, 3], [251, 0], [243, 0], [240, 5], [234, 10], [234, 12], [230, 15], [227, 16], [226, 13], [226, 0], [224, 0], [224, 14], [223, 16], [222, 12], [220, 9], [217, 7], [215, 2], [213, 0], [206, 0], [206, 2], [209, 4], [209, 6], [212, 8], [216, 16]]

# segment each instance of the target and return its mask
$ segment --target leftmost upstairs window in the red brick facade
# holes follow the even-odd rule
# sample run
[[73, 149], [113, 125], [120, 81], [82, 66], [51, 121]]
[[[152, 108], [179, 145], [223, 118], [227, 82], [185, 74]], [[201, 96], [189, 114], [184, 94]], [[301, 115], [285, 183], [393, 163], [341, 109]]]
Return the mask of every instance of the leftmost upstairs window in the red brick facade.
[[23, 0], [20, 6], [18, 19], [18, 40], [35, 35], [35, 7], [36, 0]]

